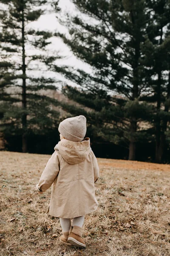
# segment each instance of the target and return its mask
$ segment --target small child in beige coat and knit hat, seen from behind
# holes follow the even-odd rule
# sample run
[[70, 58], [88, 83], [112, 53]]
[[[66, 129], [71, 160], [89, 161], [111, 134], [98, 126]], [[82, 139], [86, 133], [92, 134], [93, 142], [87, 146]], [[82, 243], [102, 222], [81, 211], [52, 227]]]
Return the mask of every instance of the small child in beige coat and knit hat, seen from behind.
[[60, 241], [85, 248], [82, 226], [85, 215], [98, 207], [94, 183], [99, 177], [99, 166], [91, 150], [90, 139], [84, 138], [85, 116], [63, 120], [58, 130], [60, 141], [55, 146], [36, 189], [42, 193], [52, 185], [48, 212], [59, 217], [62, 227]]

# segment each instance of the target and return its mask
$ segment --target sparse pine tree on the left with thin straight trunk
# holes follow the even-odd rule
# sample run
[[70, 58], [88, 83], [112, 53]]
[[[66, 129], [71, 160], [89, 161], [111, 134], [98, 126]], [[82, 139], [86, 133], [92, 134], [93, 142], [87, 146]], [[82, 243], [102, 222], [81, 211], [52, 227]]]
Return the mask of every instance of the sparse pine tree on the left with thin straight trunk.
[[[0, 11], [0, 41], [4, 55], [0, 74], [3, 121], [10, 132], [21, 132], [23, 152], [27, 152], [29, 131], [41, 133], [54, 128], [59, 118], [59, 113], [52, 108], [58, 101], [44, 93], [44, 90], [56, 91], [56, 79], [44, 76], [48, 70], [46, 64], [57, 58], [46, 50], [52, 33], [28, 26], [45, 13], [49, 1], [0, 0], [0, 4], [3, 6]], [[58, 11], [57, 4], [58, 1], [53, 1]]]

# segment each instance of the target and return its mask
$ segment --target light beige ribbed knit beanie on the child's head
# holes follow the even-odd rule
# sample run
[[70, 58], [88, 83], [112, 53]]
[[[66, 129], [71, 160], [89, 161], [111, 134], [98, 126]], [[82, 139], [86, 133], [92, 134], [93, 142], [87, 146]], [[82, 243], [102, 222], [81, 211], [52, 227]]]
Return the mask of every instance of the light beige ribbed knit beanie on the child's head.
[[82, 141], [86, 134], [86, 118], [75, 116], [64, 119], [60, 122], [58, 130], [66, 140]]

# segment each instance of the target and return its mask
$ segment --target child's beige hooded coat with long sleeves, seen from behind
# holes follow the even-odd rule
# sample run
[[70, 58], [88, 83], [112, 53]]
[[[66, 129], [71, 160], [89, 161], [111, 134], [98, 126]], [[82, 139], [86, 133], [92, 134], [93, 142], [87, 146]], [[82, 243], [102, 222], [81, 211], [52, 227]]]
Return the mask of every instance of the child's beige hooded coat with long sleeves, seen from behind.
[[42, 172], [36, 188], [44, 192], [52, 184], [50, 215], [75, 218], [93, 212], [98, 203], [94, 182], [99, 166], [90, 147], [90, 139], [82, 142], [61, 140]]

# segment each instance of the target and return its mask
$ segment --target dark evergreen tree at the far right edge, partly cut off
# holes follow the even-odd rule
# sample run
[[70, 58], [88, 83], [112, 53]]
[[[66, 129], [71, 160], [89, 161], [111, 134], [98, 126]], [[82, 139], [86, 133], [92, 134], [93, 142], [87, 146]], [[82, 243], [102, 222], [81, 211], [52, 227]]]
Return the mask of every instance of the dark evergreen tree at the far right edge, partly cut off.
[[155, 102], [156, 153], [155, 160], [161, 163], [166, 150], [167, 122], [170, 119], [170, 1], [148, 1], [152, 13], [148, 27], [147, 40], [144, 44], [144, 64], [150, 68], [152, 96], [147, 99]]

